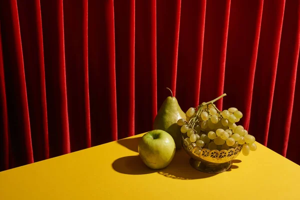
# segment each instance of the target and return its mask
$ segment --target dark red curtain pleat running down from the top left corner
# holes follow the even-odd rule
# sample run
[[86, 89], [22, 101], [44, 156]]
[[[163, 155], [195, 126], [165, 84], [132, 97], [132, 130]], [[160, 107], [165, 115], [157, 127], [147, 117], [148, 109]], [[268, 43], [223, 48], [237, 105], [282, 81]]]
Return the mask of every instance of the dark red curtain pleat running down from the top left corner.
[[[33, 162], [22, 43], [16, 0], [0, 2], [11, 166]], [[3, 31], [5, 29], [5, 31]], [[8, 67], [6, 67], [8, 66]]]

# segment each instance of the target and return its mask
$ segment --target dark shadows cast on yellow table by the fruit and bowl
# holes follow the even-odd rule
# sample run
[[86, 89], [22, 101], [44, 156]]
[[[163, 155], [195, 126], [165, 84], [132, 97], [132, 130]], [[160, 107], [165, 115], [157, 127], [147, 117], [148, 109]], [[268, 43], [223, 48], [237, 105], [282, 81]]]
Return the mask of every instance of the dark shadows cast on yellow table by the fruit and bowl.
[[[122, 140], [118, 140], [118, 143], [121, 145], [127, 147], [130, 150], [137, 152], [137, 145], [138, 140], [140, 137], [137, 138], [126, 138]], [[232, 160], [232, 166], [227, 171], [234, 170], [235, 168], [238, 168], [237, 165], [234, 165], [234, 163], [239, 163], [241, 160], [234, 159]], [[131, 155], [131, 156], [125, 156], [120, 157], [112, 163], [112, 168], [115, 171], [118, 171], [120, 173], [125, 174], [148, 174], [148, 173], [158, 173], [160, 175], [164, 175], [165, 177], [174, 178], [174, 179], [182, 179], [182, 180], [188, 180], [188, 179], [200, 179], [200, 178], [207, 178], [214, 175], [217, 175], [217, 173], [203, 173], [201, 171], [198, 171], [194, 169], [189, 164], [189, 156], [184, 152], [184, 150], [181, 148], [179, 150], [176, 150], [175, 156], [171, 163], [159, 170], [154, 170], [148, 168], [140, 159], [139, 155]]]

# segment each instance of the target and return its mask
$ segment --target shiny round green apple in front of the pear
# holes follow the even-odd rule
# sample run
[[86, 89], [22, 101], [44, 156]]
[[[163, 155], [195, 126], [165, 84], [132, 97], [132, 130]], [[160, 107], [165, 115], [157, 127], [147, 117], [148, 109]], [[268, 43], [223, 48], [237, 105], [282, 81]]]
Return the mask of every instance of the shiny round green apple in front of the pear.
[[164, 168], [174, 157], [174, 139], [164, 130], [151, 130], [139, 140], [138, 153], [148, 167], [152, 169]]

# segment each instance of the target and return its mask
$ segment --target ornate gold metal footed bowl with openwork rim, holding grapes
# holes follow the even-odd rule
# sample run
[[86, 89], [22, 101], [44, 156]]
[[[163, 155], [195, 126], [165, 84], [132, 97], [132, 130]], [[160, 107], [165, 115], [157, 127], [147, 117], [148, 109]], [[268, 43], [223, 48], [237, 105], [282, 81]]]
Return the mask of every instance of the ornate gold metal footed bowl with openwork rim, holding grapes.
[[184, 139], [182, 135], [182, 146], [185, 152], [191, 157], [189, 163], [195, 169], [206, 173], [220, 173], [228, 170], [231, 160], [237, 157], [243, 145], [237, 145], [228, 150], [209, 150], [194, 146]]

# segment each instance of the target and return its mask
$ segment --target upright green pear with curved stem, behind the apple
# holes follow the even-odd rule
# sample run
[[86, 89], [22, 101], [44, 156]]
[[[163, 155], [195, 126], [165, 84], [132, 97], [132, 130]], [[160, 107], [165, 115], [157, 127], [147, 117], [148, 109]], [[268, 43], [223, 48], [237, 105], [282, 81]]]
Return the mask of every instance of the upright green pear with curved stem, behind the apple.
[[170, 92], [171, 96], [163, 101], [155, 116], [153, 129], [160, 129], [169, 133], [175, 141], [176, 149], [179, 149], [181, 148], [182, 133], [180, 132], [181, 126], [177, 125], [177, 120], [180, 118], [185, 119], [185, 113], [181, 110], [171, 90]]

